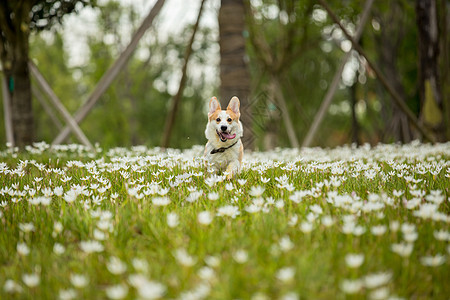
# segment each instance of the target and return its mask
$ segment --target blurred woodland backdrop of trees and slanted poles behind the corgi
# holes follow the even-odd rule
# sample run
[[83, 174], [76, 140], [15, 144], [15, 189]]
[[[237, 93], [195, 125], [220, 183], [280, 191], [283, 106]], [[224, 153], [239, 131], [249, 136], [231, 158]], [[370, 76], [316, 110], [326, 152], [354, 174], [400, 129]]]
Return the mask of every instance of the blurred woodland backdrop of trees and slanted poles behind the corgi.
[[449, 2], [326, 3], [366, 57], [320, 1], [2, 1], [1, 147], [80, 143], [61, 131], [96, 89], [75, 123], [102, 147], [204, 144], [233, 95], [247, 149], [447, 141]]

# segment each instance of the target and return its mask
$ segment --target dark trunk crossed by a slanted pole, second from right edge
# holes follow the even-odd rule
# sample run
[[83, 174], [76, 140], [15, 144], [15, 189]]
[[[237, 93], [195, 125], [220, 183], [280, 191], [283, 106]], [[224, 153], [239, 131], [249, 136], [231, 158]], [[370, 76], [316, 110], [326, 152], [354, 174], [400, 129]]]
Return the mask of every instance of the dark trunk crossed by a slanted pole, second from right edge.
[[[415, 110], [417, 89], [414, 88], [416, 66], [411, 66], [410, 63], [402, 65], [404, 61], [415, 61], [417, 57], [413, 12], [413, 6], [402, 1], [391, 1], [384, 5], [378, 5], [373, 11], [374, 20], [379, 24], [378, 30], [374, 30], [373, 46], [380, 69], [403, 101], [408, 99], [408, 106], [417, 112]], [[402, 51], [405, 48], [407, 51]], [[410, 68], [410, 70], [406, 68]], [[410, 86], [408, 86], [408, 79], [413, 80]], [[379, 90], [382, 93], [383, 89]], [[383, 103], [382, 115], [384, 117], [382, 141], [391, 141], [390, 139], [393, 138], [396, 142], [410, 142], [413, 139], [413, 131], [406, 115], [386, 96], [383, 93], [380, 97]]]

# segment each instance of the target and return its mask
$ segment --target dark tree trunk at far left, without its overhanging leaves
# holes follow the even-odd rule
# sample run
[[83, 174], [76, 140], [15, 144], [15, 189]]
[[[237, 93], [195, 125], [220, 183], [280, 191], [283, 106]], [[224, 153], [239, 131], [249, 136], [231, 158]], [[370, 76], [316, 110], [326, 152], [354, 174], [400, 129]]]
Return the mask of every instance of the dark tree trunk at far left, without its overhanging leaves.
[[[7, 22], [11, 12], [2, 9], [0, 18], [3, 33], [1, 62], [11, 98], [13, 135], [16, 146], [24, 148], [33, 142], [34, 123], [31, 106], [31, 82], [28, 69], [29, 24], [31, 4], [24, 2]], [[9, 15], [8, 15], [9, 14]]]

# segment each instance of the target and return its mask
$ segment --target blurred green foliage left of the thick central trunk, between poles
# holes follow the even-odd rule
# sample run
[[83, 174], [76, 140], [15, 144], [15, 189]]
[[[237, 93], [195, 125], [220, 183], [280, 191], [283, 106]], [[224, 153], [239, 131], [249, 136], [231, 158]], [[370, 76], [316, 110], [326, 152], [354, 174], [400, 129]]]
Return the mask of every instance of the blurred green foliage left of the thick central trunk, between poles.
[[[52, 38], [46, 39], [46, 42], [40, 35], [34, 36], [32, 40], [31, 53], [35, 61], [72, 114], [82, 105], [126, 46], [129, 35], [124, 34], [121, 24], [131, 24], [131, 31], [138, 25], [138, 14], [134, 8], [121, 6], [118, 2], [107, 2], [98, 13], [99, 27], [88, 38], [90, 56], [83, 65], [67, 65], [65, 45], [58, 31]], [[136, 51], [138, 55], [130, 59], [127, 67], [81, 123], [82, 130], [91, 141], [105, 147], [159, 145], [172, 97], [169, 93], [170, 85], [177, 81], [185, 37], [190, 31], [191, 28], [187, 27], [181, 35], [161, 41], [158, 29], [149, 29]], [[212, 34], [209, 28], [199, 30], [196, 52], [190, 61], [193, 68], [205, 63], [205, 53], [212, 47], [208, 43]], [[184, 92], [180, 113], [176, 118], [171, 146], [191, 147], [204, 142], [206, 118], [203, 121], [202, 117], [205, 97], [206, 92], [211, 94], [213, 91], [205, 86], [205, 82], [205, 74], [194, 74], [194, 71], [188, 79], [188, 88]], [[50, 123], [39, 103], [35, 103], [34, 107], [35, 112], [43, 116], [37, 120], [38, 140], [51, 142], [58, 133], [57, 128]], [[201, 122], [198, 122], [199, 116]]]

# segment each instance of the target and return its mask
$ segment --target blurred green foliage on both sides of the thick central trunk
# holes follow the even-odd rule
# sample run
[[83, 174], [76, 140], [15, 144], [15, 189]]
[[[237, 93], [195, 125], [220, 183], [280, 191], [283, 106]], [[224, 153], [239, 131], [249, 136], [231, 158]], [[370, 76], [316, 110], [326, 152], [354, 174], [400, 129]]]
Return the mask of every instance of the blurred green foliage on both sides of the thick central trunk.
[[[47, 1], [40, 15], [48, 16], [49, 8], [57, 2]], [[347, 28], [354, 32], [365, 1], [328, 2]], [[246, 3], [251, 4], [255, 21], [253, 27], [248, 22], [249, 31], [243, 33], [247, 37], [246, 50], [252, 80], [250, 102], [255, 106], [252, 115], [255, 143], [263, 149], [267, 132], [272, 131], [277, 139], [276, 146], [289, 145], [283, 116], [270, 91], [271, 76], [277, 77], [281, 83], [296, 136], [301, 142], [345, 51], [349, 50], [348, 41], [314, 1], [264, 0]], [[127, 45], [141, 16], [133, 6], [118, 1], [103, 2], [95, 12], [98, 16], [96, 30], [88, 37], [90, 51], [84, 64], [68, 66], [65, 49], [75, 45], [64, 45], [64, 31], [60, 27], [53, 27], [51, 34], [32, 35], [31, 39], [31, 57], [72, 114]], [[360, 43], [382, 72], [395, 82], [396, 90], [418, 116], [420, 100], [415, 19], [411, 1], [375, 1]], [[33, 22], [44, 24], [37, 20]], [[91, 141], [105, 147], [160, 144], [161, 131], [174, 86], [178, 84], [191, 30], [187, 26], [181, 33], [166, 37], [161, 25], [154, 24], [140, 41], [127, 67], [81, 123], [81, 128]], [[255, 30], [267, 42], [267, 49], [252, 40]], [[49, 35], [53, 37], [49, 38]], [[194, 46], [187, 88], [171, 139], [172, 147], [189, 148], [205, 142], [205, 107], [207, 100], [217, 95], [220, 84], [216, 29], [205, 27], [202, 23]], [[389, 57], [385, 57], [386, 53]], [[261, 56], [268, 55], [273, 57], [273, 64], [261, 59]], [[346, 76], [343, 76], [314, 144], [336, 146], [356, 142], [352, 139], [355, 130], [359, 130], [357, 141], [360, 143], [404, 141], [396, 132], [399, 130], [393, 130], [391, 125], [401, 113], [365, 60], [353, 53], [344, 73]], [[352, 97], [356, 99], [354, 104]], [[35, 102], [33, 109], [37, 116], [36, 139], [51, 142], [58, 132], [57, 126], [53, 125], [39, 103]], [[355, 120], [352, 120], [352, 111], [355, 111]], [[358, 129], [354, 128], [354, 124]], [[3, 126], [2, 122], [0, 142], [5, 141]], [[417, 136], [411, 134], [411, 138]], [[77, 142], [73, 137], [69, 141]]]

